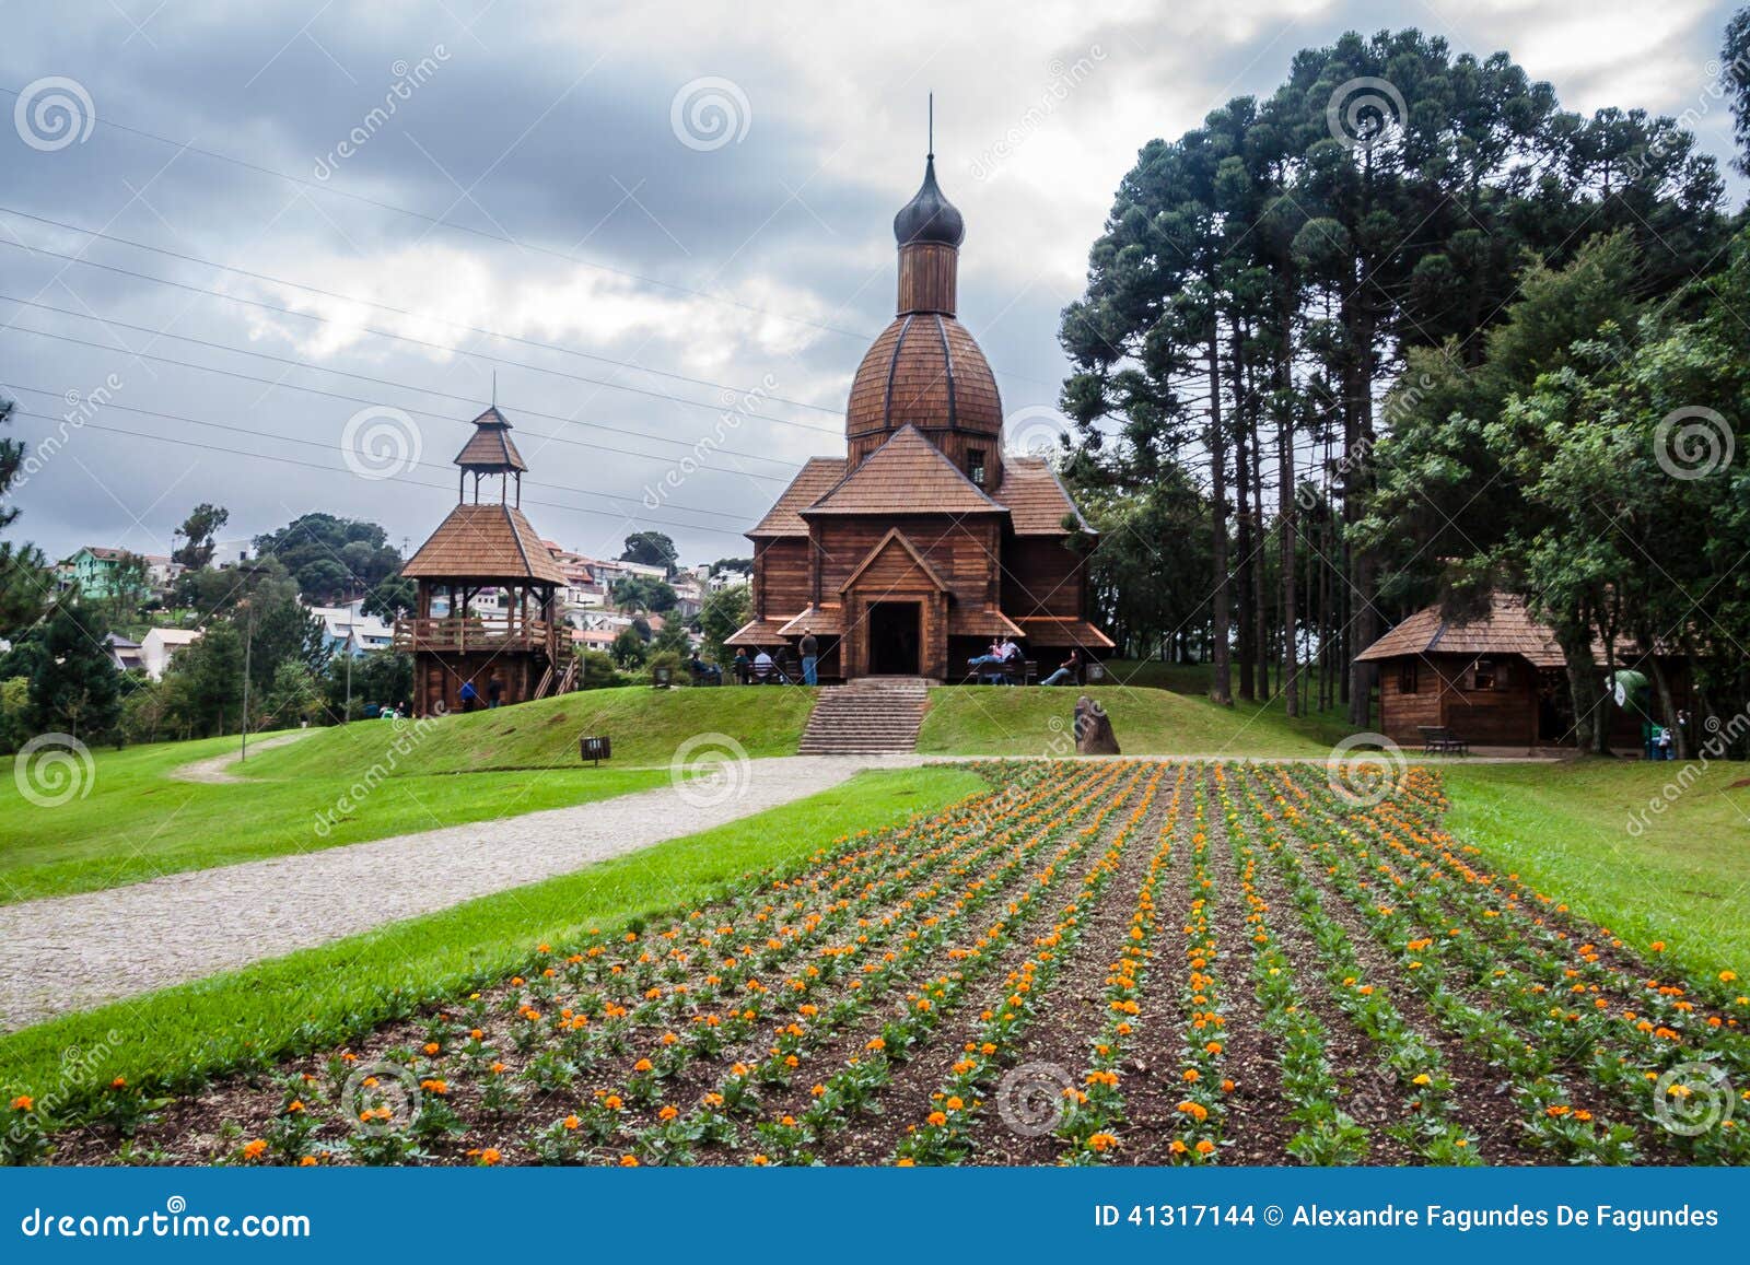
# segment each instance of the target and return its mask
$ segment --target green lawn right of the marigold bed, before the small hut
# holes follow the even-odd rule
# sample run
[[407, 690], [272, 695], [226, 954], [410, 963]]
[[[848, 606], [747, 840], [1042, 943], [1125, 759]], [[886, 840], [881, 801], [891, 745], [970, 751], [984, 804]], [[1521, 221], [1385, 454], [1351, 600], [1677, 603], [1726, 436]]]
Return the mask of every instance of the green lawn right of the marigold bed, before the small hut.
[[[1645, 950], [1668, 945], [1692, 975], [1750, 978], [1750, 768], [1717, 763], [1664, 812], [1676, 761], [1444, 765], [1452, 835]], [[1631, 833], [1631, 821], [1640, 831]]]

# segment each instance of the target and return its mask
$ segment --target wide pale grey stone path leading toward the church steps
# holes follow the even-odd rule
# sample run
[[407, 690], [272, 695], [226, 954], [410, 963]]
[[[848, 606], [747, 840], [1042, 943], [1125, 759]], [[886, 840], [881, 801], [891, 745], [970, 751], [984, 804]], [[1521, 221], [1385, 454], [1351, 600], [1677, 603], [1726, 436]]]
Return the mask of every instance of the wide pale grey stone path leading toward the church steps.
[[917, 763], [915, 756], [760, 759], [738, 782], [665, 786], [0, 906], [0, 1031], [570, 873], [802, 800], [863, 768]]

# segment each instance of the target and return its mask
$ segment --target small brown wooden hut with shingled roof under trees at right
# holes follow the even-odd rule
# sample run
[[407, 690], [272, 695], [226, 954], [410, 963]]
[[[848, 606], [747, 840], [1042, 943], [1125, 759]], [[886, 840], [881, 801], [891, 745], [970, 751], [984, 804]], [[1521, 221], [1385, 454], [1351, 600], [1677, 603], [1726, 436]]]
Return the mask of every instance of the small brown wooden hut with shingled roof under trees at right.
[[[1603, 646], [1594, 646], [1592, 656], [1603, 698]], [[1488, 614], [1466, 623], [1426, 607], [1356, 658], [1379, 665], [1379, 728], [1393, 742], [1419, 745], [1423, 726], [1435, 726], [1472, 745], [1573, 744], [1573, 693], [1561, 646], [1516, 597], [1496, 595]], [[1629, 646], [1617, 649], [1624, 668], [1638, 658]], [[1687, 672], [1675, 658], [1670, 668], [1678, 707], [1685, 707]], [[1612, 745], [1640, 745], [1643, 717], [1615, 707], [1608, 714]]]

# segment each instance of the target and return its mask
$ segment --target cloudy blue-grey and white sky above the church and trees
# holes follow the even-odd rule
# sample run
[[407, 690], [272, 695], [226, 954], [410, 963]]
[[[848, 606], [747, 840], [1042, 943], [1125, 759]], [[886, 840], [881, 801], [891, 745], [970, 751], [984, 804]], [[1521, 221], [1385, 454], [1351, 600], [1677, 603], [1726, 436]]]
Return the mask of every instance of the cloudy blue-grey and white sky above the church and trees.
[[926, 93], [961, 318], [1013, 416], [1057, 395], [1057, 313], [1138, 147], [1297, 49], [1388, 24], [1505, 49], [1568, 108], [1698, 108], [1724, 166], [1729, 10], [10, 0], [0, 390], [37, 453], [12, 534], [164, 553], [214, 500], [226, 535], [326, 509], [418, 546], [495, 371], [542, 535], [744, 555], [844, 448]]

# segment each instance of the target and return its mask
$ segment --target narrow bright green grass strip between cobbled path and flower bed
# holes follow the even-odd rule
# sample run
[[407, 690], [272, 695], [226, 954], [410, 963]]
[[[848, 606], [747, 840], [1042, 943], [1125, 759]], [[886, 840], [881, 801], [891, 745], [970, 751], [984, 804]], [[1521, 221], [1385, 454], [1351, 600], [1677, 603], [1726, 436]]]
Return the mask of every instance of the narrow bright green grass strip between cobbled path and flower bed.
[[936, 812], [985, 789], [970, 768], [872, 772], [807, 800], [574, 875], [516, 887], [322, 948], [164, 989], [0, 1038], [5, 1095], [68, 1092], [68, 1048], [91, 1057], [77, 1094], [130, 1083], [186, 1090], [259, 1060], [332, 1046], [427, 1003], [495, 982], [537, 943], [623, 929], [698, 905], [766, 866], [794, 866], [858, 829]]

